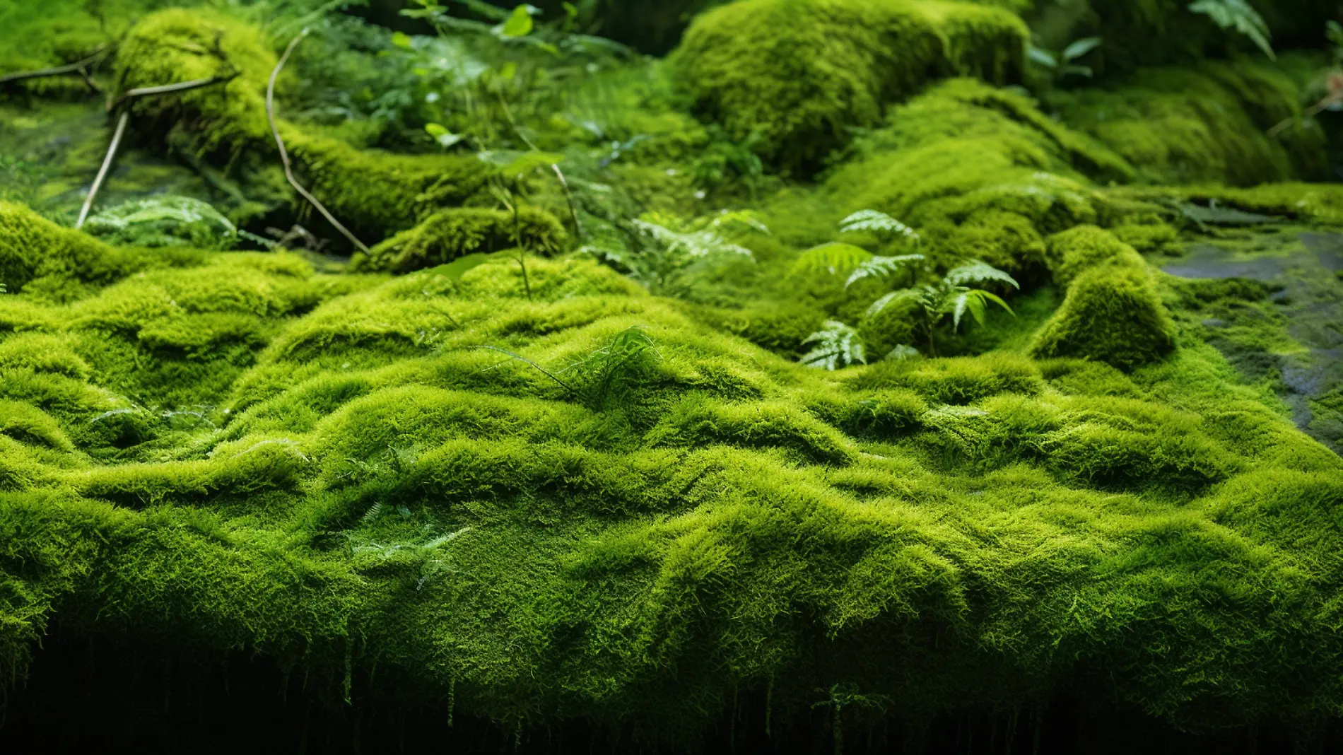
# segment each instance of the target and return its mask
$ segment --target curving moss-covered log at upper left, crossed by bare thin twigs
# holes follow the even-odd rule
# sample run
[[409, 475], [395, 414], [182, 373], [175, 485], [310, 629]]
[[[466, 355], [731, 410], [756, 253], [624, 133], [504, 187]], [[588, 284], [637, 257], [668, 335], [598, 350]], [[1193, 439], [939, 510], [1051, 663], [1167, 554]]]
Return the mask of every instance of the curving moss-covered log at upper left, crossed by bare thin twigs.
[[[115, 70], [124, 89], [234, 77], [223, 85], [133, 105], [156, 132], [177, 130], [189, 137], [193, 150], [232, 164], [254, 152], [275, 152], [265, 102], [275, 58], [265, 35], [246, 21], [219, 12], [168, 9], [145, 16], [130, 30]], [[412, 227], [434, 208], [463, 203], [493, 172], [474, 157], [356, 149], [318, 129], [283, 120], [277, 126], [309, 189], [373, 243]], [[308, 212], [297, 200], [295, 208]]]

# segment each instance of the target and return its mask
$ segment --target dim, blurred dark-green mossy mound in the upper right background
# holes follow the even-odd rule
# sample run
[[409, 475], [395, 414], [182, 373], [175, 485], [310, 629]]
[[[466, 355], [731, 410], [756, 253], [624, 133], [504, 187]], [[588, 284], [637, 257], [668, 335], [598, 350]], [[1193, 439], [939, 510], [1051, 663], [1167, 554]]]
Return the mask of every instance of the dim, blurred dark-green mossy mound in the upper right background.
[[1206, 63], [1151, 69], [1096, 87], [1050, 95], [1064, 122], [1121, 154], [1152, 183], [1253, 185], [1327, 177], [1326, 137], [1296, 128], [1265, 132], [1301, 116], [1300, 87], [1268, 64]]

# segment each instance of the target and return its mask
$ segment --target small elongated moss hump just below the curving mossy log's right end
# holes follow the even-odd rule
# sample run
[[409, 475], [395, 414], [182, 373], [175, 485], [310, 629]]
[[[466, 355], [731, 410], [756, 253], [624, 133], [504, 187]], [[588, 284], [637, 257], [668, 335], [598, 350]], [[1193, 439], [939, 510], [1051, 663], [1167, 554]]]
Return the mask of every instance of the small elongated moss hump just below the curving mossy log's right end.
[[502, 210], [442, 210], [351, 261], [353, 270], [410, 273], [474, 253], [521, 246], [551, 254], [564, 245], [560, 222], [544, 210], [524, 207], [514, 220]]

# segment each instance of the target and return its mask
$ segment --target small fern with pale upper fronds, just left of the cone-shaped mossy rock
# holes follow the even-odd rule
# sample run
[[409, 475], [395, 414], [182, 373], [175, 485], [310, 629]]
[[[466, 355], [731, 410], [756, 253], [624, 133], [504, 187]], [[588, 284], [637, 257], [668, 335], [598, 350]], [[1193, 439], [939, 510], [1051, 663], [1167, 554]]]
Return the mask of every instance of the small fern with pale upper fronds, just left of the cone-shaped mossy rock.
[[[1015, 289], [1021, 287], [1007, 273], [992, 265], [972, 261], [954, 267], [936, 283], [890, 292], [872, 302], [865, 317], [876, 317], [888, 306], [900, 301], [916, 302], [919, 305], [917, 312], [921, 314], [920, 326], [928, 339], [928, 355], [937, 356], [936, 330], [947, 318], [951, 318], [952, 332], [960, 328], [960, 321], [966, 314], [970, 314], [975, 322], [983, 325], [990, 304], [997, 304], [1015, 317], [1015, 313], [1002, 297], [984, 289], [971, 287], [975, 283], [988, 282], [1002, 282]], [[901, 357], [912, 356], [913, 353], [913, 347], [902, 344], [901, 347], [896, 347], [896, 351], [890, 356]]]

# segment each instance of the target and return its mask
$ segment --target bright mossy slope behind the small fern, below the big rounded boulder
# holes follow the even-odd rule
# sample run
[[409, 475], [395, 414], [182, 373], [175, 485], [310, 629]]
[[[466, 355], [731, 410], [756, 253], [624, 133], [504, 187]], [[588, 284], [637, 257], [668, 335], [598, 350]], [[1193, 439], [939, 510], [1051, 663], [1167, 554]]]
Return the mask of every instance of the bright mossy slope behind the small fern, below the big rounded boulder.
[[1121, 159], [1019, 94], [970, 79], [893, 109], [853, 152], [825, 193], [839, 211], [881, 210], [912, 224], [947, 265], [987, 254], [1029, 282], [1042, 234], [1128, 212], [1088, 180], [1131, 175]]

